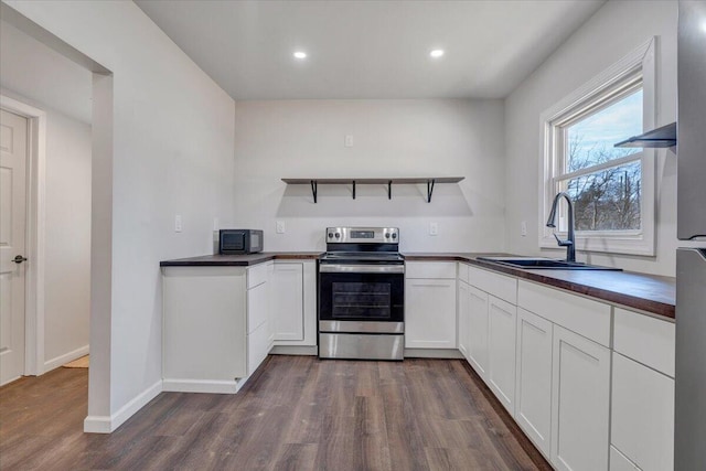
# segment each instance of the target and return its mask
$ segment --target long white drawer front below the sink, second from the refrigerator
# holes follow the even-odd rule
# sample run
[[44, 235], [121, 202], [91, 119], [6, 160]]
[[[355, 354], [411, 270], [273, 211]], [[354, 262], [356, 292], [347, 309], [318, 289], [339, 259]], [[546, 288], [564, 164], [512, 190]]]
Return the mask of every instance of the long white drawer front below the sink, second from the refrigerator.
[[610, 346], [610, 306], [520, 280], [517, 306], [603, 346]]

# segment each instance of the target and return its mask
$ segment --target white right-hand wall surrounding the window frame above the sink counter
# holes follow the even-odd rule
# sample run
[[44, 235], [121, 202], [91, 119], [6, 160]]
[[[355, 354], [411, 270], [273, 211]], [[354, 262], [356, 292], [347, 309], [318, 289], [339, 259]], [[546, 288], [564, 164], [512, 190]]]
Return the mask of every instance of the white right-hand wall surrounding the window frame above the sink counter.
[[[598, 75], [651, 36], [659, 36], [657, 126], [676, 119], [675, 1], [616, 1], [603, 6], [567, 40], [505, 101], [507, 249], [539, 254], [539, 115]], [[673, 152], [657, 151], [656, 257], [607, 256], [593, 253], [595, 264], [674, 276], [676, 244], [676, 161]], [[520, 235], [522, 221], [527, 236]], [[558, 256], [565, 250], [543, 250]], [[586, 260], [587, 255], [579, 253]]]

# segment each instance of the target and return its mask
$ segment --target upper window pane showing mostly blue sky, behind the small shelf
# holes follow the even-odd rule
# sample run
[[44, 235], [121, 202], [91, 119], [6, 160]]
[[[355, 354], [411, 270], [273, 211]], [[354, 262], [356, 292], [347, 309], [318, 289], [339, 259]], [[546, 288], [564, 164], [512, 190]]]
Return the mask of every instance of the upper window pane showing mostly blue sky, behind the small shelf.
[[613, 144], [642, 133], [642, 89], [566, 128], [566, 172], [608, 162], [642, 149]]

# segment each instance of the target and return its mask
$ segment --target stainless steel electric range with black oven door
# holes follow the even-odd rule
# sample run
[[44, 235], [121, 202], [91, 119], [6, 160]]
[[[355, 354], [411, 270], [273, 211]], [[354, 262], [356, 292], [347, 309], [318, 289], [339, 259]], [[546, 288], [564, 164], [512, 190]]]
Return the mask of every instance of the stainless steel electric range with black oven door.
[[319, 357], [403, 360], [399, 229], [329, 227], [319, 261]]

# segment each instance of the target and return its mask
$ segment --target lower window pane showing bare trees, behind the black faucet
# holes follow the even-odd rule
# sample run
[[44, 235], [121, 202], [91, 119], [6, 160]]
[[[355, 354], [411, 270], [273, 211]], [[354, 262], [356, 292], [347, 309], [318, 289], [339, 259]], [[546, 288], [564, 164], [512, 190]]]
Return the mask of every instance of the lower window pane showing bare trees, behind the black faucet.
[[565, 182], [574, 201], [576, 229], [639, 229], [641, 183], [639, 161]]

